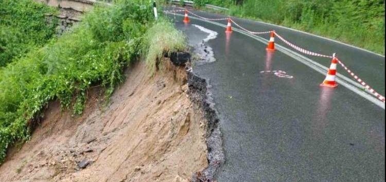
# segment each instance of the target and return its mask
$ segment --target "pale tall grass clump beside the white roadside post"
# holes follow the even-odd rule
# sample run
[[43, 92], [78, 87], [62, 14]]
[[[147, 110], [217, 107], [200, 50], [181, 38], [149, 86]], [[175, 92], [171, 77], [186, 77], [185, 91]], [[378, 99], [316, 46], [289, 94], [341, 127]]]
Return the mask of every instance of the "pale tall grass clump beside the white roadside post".
[[164, 54], [186, 49], [185, 35], [165, 19], [160, 19], [147, 31], [145, 42], [144, 54], [151, 74], [155, 71], [157, 59]]

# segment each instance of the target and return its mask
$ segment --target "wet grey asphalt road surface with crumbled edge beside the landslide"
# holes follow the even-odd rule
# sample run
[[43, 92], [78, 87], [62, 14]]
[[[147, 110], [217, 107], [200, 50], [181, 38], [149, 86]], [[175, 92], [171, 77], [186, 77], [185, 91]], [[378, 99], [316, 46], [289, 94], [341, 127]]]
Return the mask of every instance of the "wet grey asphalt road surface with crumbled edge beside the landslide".
[[[192, 45], [207, 35], [192, 24], [218, 32], [207, 43], [217, 61], [196, 64], [194, 72], [209, 79], [220, 114], [226, 163], [219, 181], [385, 180], [381, 107], [343, 86], [320, 87], [325, 76], [282, 52], [268, 53], [265, 44], [241, 33], [233, 32], [227, 39], [223, 27], [197, 20], [184, 25], [177, 17], [177, 28]], [[297, 32], [291, 37], [291, 32], [276, 31], [290, 41], [296, 38], [293, 42], [300, 45], [315, 46], [311, 50], [325, 45], [322, 53], [340, 48], [336, 52], [342, 54], [341, 60], [358, 68], [358, 74], [384, 94], [384, 58], [361, 50], [354, 54], [353, 48], [325, 40], [316, 44], [317, 38], [299, 37]], [[343, 55], [366, 58], [370, 66], [355, 66], [357, 61]], [[330, 63], [312, 59], [325, 66]], [[293, 78], [261, 74], [264, 70], [283, 70]]]

